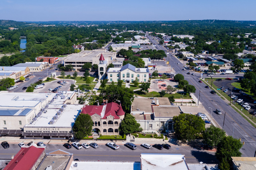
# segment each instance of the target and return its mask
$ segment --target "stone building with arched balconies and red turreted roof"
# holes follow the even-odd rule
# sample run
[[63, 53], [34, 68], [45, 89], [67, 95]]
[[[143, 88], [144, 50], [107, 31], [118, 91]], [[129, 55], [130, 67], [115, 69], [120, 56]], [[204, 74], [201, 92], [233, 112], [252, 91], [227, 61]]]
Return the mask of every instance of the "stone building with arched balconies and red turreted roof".
[[92, 131], [99, 135], [118, 135], [119, 125], [124, 119], [121, 104], [114, 102], [98, 106], [84, 106], [82, 112], [92, 117]]

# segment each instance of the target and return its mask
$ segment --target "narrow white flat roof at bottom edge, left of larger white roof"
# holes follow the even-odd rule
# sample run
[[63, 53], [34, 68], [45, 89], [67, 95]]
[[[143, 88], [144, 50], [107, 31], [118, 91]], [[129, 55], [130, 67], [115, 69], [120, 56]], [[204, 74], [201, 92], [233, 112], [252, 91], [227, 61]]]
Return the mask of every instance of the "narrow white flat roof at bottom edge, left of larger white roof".
[[[74, 167], [77, 163], [77, 167]], [[69, 170], [140, 170], [140, 162], [100, 162], [100, 161], [73, 161]]]

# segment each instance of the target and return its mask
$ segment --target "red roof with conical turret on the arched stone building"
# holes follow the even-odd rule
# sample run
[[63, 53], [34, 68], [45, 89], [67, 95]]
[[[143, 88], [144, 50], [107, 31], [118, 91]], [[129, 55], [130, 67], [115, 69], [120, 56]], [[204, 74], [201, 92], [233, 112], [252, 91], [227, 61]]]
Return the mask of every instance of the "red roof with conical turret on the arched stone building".
[[[117, 115], [117, 112], [120, 110], [119, 107], [121, 107], [119, 104], [111, 102], [111, 103], [107, 103], [106, 105], [102, 106], [84, 106], [83, 110], [81, 113], [83, 114], [88, 114], [90, 116], [97, 114], [97, 115], [101, 115], [102, 109], [105, 109], [104, 115], [102, 117], [102, 119], [107, 119], [107, 117], [109, 115], [114, 116], [114, 119], [119, 119], [119, 116]], [[121, 107], [122, 109], [122, 107]], [[123, 109], [120, 110], [120, 115], [122, 115]], [[124, 112], [124, 111], [123, 111]]]

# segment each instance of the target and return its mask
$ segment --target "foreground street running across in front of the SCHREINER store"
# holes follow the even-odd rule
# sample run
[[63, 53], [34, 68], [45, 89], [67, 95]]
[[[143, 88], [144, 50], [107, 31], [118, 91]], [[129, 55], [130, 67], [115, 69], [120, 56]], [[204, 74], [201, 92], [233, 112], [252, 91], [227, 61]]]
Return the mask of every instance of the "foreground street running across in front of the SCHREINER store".
[[[106, 142], [107, 143], [107, 142]], [[63, 142], [64, 144], [64, 142]], [[88, 149], [77, 150], [73, 146], [70, 149], [66, 149], [62, 144], [46, 144], [46, 153], [61, 149], [74, 154], [74, 159], [81, 161], [140, 161], [141, 153], [181, 153], [186, 156], [187, 163], [199, 163], [204, 162], [208, 164], [218, 163], [214, 156], [214, 152], [207, 152], [204, 150], [198, 150], [190, 146], [178, 146], [172, 145], [172, 148], [167, 150], [158, 150], [156, 148], [146, 149], [142, 146], [137, 146], [136, 150], [131, 150], [120, 145], [118, 150], [113, 150], [105, 144], [99, 144], [99, 147], [94, 149], [92, 147]], [[18, 144], [10, 144], [10, 148], [4, 149], [0, 147], [0, 158], [11, 158], [11, 155], [15, 155], [20, 150]]]

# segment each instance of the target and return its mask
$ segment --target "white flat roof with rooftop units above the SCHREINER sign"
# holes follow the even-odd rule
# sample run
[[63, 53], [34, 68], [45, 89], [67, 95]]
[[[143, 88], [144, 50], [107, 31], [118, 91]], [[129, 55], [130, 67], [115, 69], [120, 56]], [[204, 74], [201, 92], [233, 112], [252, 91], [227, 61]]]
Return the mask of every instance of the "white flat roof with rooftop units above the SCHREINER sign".
[[58, 115], [58, 119], [53, 124], [49, 124], [53, 116], [57, 114], [63, 105], [50, 104], [46, 113], [38, 116], [36, 121], [32, 124], [27, 124], [24, 128], [29, 127], [72, 127], [75, 123], [76, 117], [80, 114], [83, 105], [66, 105], [61, 115]]

